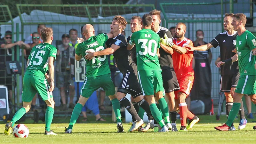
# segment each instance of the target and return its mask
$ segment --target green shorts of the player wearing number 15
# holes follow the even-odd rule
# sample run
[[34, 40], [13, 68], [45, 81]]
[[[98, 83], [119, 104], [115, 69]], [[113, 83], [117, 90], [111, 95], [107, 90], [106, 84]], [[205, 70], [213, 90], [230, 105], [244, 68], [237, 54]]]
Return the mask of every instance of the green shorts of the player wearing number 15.
[[30, 102], [36, 92], [41, 96], [43, 100], [52, 98], [52, 92], [49, 92], [50, 88], [45, 78], [25, 74], [23, 77], [23, 89], [22, 89], [22, 101]]

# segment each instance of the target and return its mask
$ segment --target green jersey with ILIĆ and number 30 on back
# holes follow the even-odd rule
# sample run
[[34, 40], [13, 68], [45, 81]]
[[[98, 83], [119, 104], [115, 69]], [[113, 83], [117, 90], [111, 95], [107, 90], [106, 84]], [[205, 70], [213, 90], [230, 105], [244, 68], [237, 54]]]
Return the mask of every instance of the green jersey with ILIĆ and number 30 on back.
[[159, 70], [160, 64], [156, 54], [160, 48], [160, 37], [151, 29], [134, 32], [129, 44], [136, 45], [137, 67], [140, 70]]

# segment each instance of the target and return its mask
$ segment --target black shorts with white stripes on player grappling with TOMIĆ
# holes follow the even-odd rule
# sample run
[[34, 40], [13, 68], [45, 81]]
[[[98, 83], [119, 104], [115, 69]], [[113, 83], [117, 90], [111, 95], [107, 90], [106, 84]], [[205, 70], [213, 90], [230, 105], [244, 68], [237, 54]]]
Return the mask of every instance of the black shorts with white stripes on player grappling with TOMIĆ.
[[129, 92], [133, 98], [142, 95], [140, 84], [134, 72], [127, 72], [124, 74], [124, 78], [122, 79], [117, 92], [122, 92], [124, 94]]

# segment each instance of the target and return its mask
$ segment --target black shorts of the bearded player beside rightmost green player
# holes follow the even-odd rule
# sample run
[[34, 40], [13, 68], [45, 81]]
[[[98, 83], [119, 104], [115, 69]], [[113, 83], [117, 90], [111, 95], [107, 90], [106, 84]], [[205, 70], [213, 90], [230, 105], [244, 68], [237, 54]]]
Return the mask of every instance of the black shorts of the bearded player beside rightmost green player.
[[230, 92], [232, 87], [236, 87], [240, 73], [233, 75], [221, 75], [220, 92]]

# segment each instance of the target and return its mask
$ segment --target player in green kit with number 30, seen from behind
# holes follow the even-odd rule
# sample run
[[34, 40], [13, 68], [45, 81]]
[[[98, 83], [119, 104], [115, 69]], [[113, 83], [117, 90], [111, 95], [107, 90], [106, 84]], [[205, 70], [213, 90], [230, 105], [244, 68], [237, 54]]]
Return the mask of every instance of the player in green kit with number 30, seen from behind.
[[143, 29], [132, 34], [127, 46], [131, 50], [135, 44], [137, 52], [137, 67], [140, 87], [144, 96], [147, 97], [152, 116], [162, 127], [160, 132], [169, 132], [164, 124], [161, 113], [156, 106], [154, 94], [160, 104], [163, 117], [167, 124], [170, 124], [167, 103], [163, 97], [163, 80], [161, 68], [158, 61], [160, 37], [151, 30], [153, 18], [150, 14], [144, 14], [142, 17]]

